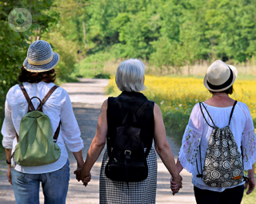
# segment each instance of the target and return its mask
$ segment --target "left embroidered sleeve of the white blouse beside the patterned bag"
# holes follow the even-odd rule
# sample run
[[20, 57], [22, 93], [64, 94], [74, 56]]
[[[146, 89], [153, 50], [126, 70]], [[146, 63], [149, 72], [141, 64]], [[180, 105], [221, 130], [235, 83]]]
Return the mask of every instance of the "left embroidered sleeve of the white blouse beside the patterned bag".
[[186, 126], [178, 156], [182, 167], [190, 173], [193, 171], [199, 151], [202, 138], [202, 122], [202, 113], [199, 104], [196, 104], [191, 112], [189, 124]]

